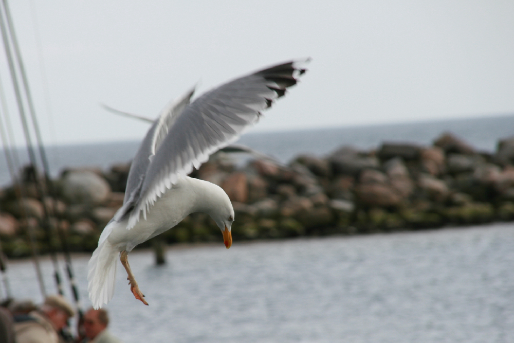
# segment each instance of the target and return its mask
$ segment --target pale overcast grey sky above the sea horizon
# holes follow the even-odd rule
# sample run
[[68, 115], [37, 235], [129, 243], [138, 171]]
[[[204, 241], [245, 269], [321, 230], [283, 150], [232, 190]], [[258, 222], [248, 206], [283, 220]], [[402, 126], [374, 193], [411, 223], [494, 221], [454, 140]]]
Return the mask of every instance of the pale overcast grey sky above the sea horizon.
[[[249, 132], [514, 113], [514, 2], [10, 1], [47, 144], [141, 139], [155, 117], [274, 63], [309, 71]], [[23, 143], [5, 53], [0, 77]]]

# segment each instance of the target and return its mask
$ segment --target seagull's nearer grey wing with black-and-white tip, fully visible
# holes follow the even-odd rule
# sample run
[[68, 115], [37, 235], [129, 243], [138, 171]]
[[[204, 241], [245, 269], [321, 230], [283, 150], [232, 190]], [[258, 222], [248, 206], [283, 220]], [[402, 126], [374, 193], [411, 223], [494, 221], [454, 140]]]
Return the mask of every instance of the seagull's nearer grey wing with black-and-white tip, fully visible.
[[[237, 139], [261, 111], [283, 96], [305, 73], [304, 61], [290, 61], [235, 79], [201, 95], [176, 117], [146, 170], [127, 229], [136, 225], [177, 179]], [[146, 138], [145, 138], [146, 139]], [[132, 170], [131, 170], [132, 172]]]

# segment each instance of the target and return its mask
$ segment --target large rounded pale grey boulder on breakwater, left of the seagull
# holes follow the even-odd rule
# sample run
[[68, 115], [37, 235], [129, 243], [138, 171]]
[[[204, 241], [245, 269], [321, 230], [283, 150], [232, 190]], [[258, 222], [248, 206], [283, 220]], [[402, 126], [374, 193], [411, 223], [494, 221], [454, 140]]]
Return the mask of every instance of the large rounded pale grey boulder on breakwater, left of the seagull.
[[61, 195], [71, 204], [100, 205], [111, 194], [111, 187], [106, 180], [90, 170], [67, 171], [60, 185]]

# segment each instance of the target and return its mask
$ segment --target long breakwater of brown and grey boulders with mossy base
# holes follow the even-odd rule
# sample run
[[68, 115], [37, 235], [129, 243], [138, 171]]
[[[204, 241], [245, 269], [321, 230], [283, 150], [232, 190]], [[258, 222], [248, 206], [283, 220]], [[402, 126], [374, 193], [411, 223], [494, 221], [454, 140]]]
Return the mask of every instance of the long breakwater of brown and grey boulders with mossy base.
[[[52, 233], [57, 229], [71, 251], [92, 251], [123, 202], [129, 168], [66, 170], [51, 182], [57, 197], [42, 201], [26, 171], [23, 187], [0, 192], [5, 252], [29, 255], [30, 232], [40, 251], [60, 249], [59, 236]], [[342, 147], [323, 158], [301, 155], [288, 165], [256, 159], [237, 167], [218, 153], [191, 176], [227, 192], [235, 210], [235, 241], [514, 220], [514, 137], [500, 141], [495, 153], [478, 152], [443, 134], [430, 147], [398, 142], [371, 151]], [[45, 209], [51, 209], [50, 239], [42, 228]], [[215, 242], [221, 234], [208, 215], [193, 213], [159, 239]]]

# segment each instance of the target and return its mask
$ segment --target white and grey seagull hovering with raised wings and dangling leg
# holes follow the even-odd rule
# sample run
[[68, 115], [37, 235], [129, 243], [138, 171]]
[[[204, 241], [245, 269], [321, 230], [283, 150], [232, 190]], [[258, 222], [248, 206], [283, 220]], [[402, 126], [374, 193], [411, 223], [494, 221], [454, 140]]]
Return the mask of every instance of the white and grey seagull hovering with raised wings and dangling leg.
[[128, 253], [174, 227], [193, 212], [205, 212], [232, 245], [234, 209], [225, 191], [187, 176], [209, 155], [228, 146], [262, 111], [285, 95], [310, 59], [274, 65], [215, 87], [191, 101], [195, 87], [168, 104], [153, 122], [128, 172], [123, 206], [103, 229], [88, 263], [89, 298], [95, 309], [114, 295], [118, 257], [137, 300], [148, 302], [128, 264]]

